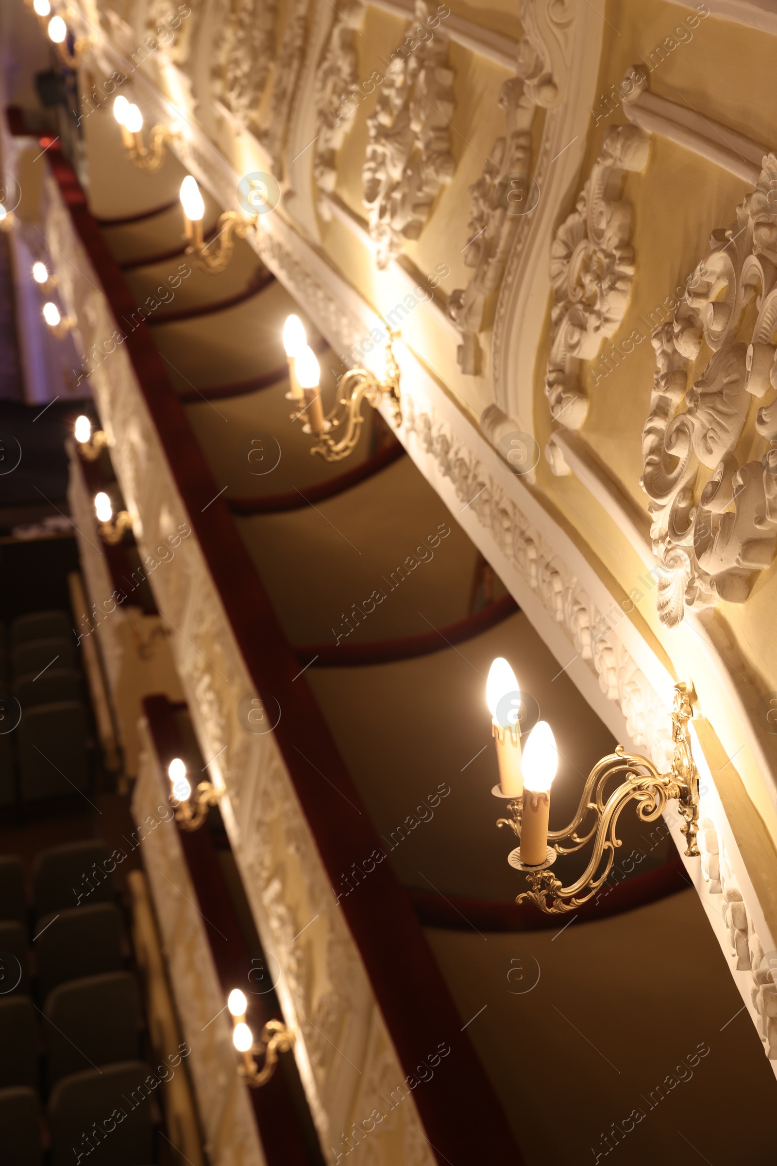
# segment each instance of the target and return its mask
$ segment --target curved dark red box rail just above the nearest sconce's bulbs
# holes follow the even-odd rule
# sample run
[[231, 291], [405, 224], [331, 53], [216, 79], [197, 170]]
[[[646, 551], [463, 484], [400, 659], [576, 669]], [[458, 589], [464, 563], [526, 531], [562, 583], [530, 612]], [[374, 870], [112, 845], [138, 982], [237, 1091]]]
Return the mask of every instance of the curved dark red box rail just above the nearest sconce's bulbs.
[[447, 624], [435, 632], [404, 635], [396, 640], [368, 640], [366, 644], [303, 644], [296, 649], [297, 660], [299, 663], [308, 663], [311, 656], [316, 656], [309, 665], [312, 668], [358, 668], [370, 663], [389, 663], [391, 660], [412, 660], [471, 640], [518, 610], [513, 596], [506, 595], [476, 614]]

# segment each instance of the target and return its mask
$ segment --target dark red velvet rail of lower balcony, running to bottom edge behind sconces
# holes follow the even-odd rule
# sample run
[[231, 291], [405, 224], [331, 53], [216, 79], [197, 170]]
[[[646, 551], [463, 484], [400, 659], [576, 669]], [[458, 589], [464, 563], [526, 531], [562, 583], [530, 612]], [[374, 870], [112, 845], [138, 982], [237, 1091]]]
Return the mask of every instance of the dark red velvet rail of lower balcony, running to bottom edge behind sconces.
[[[183, 756], [183, 744], [175, 719], [174, 708], [167, 696], [147, 696], [143, 711], [162, 765], [162, 772], [174, 757]], [[241, 988], [248, 999], [248, 1023], [256, 1039], [268, 1020], [282, 1020], [280, 1010], [267, 1006], [264, 996], [249, 992], [247, 969], [249, 953], [240, 929], [240, 921], [229, 897], [221, 864], [213, 845], [207, 823], [190, 833], [178, 829], [189, 877], [197, 892], [197, 901], [207, 935], [226, 1002], [233, 988]], [[238, 1058], [235, 1054], [235, 1073]], [[256, 1115], [260, 1136], [268, 1164], [273, 1166], [308, 1166], [310, 1159], [299, 1135], [297, 1116], [289, 1095], [283, 1072], [277, 1068], [261, 1089], [249, 1089], [248, 1095]]]

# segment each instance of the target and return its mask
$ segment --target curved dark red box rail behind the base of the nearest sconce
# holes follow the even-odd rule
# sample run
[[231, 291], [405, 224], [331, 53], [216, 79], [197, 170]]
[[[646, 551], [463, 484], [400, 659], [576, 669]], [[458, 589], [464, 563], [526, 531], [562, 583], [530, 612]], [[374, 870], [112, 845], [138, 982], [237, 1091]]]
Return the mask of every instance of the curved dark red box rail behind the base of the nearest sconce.
[[[414, 911], [424, 927], [444, 927], [454, 932], [542, 932], [558, 930], [565, 922], [587, 923], [609, 919], [626, 911], [635, 911], [649, 902], [658, 902], [670, 894], [685, 891], [688, 881], [681, 858], [672, 858], [663, 866], [644, 874], [635, 874], [623, 883], [605, 885], [599, 894], [571, 911], [568, 915], [544, 915], [529, 902], [495, 902], [489, 899], [468, 899], [460, 894], [435, 894], [432, 891], [408, 891]], [[523, 886], [521, 887], [523, 890]], [[464, 918], [461, 918], [464, 915]]]

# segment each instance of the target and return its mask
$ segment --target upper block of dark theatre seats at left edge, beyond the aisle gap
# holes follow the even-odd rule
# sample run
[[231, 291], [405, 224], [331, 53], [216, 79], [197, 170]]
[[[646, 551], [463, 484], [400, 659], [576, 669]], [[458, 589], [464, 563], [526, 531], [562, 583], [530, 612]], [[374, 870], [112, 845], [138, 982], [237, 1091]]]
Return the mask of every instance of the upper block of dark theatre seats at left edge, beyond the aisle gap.
[[[85, 793], [90, 717], [71, 620], [64, 611], [20, 616], [0, 635], [0, 806]], [[19, 710], [21, 708], [21, 719]], [[2, 732], [2, 723], [16, 725]]]

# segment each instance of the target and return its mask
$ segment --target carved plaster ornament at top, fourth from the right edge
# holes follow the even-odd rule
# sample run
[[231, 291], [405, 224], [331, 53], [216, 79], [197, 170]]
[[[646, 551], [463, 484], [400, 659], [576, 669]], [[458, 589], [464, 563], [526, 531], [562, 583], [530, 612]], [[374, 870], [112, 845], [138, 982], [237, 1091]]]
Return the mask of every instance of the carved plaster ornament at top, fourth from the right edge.
[[[428, 20], [424, 0], [417, 0], [416, 15]], [[448, 136], [454, 105], [447, 41], [433, 36], [419, 42], [416, 27], [414, 21], [401, 51], [393, 55], [375, 112], [367, 119], [362, 202], [381, 268], [421, 236], [435, 196], [455, 169]]]

